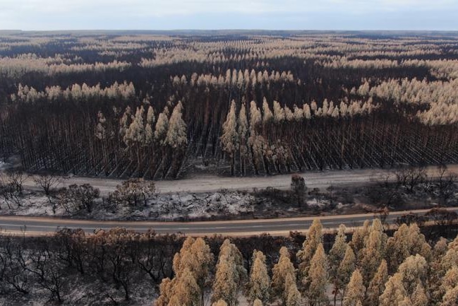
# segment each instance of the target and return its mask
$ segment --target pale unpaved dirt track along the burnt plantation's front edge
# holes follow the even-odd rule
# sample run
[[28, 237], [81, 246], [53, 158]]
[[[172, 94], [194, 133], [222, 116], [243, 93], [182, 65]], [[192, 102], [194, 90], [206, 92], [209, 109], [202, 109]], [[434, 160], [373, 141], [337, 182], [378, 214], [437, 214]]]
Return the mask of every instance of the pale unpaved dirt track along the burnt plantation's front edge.
[[[458, 173], [458, 165], [448, 165], [450, 172]], [[426, 168], [429, 177], [437, 175], [437, 167]], [[0, 174], [1, 175], [1, 174]], [[306, 180], [306, 185], [311, 188], [325, 188], [330, 185], [365, 184], [371, 181], [395, 180], [392, 170], [384, 169], [358, 169], [358, 170], [325, 170], [301, 173]], [[112, 180], [94, 177], [69, 177], [63, 180], [61, 186], [70, 184], [91, 184], [100, 189], [102, 194], [112, 192], [116, 185], [121, 184], [122, 180]], [[272, 175], [267, 177], [218, 177], [211, 175], [199, 175], [183, 180], [156, 181], [157, 192], [176, 193], [176, 192], [216, 192], [219, 189], [248, 190], [253, 188], [273, 187], [277, 189], [287, 189], [291, 184], [291, 175]], [[25, 188], [36, 189], [32, 177], [25, 180]]]

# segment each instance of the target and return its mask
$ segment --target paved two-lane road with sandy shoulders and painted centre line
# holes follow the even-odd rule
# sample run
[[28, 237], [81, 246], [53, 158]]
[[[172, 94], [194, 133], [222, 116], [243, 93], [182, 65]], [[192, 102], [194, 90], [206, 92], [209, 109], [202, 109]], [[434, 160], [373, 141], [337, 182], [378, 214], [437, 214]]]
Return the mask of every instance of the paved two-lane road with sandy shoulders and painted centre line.
[[[447, 208], [449, 211], [458, 213], [458, 208]], [[428, 210], [412, 211], [423, 214]], [[388, 223], [394, 223], [397, 217], [407, 213], [405, 211], [393, 212], [387, 216]], [[361, 226], [364, 220], [372, 220], [374, 215], [358, 214], [345, 216], [320, 216], [306, 218], [280, 218], [264, 220], [231, 220], [231, 221], [205, 221], [205, 222], [147, 222], [147, 221], [100, 221], [100, 220], [67, 220], [57, 218], [0, 216], [0, 228], [4, 233], [16, 235], [47, 235], [54, 233], [59, 228], [81, 228], [86, 233], [94, 230], [110, 228], [128, 228], [138, 232], [155, 230], [158, 234], [183, 233], [184, 235], [226, 235], [226, 236], [249, 236], [270, 233], [270, 235], [288, 235], [290, 231], [303, 232], [308, 229], [313, 219], [319, 218], [323, 228], [333, 230], [340, 224], [347, 228]]]

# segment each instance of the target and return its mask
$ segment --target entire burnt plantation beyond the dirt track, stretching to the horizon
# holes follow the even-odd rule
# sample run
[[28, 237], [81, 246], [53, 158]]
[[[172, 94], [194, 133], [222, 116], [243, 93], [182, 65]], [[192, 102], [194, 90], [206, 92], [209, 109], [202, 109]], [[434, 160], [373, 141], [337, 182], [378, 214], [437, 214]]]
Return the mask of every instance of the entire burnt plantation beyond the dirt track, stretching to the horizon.
[[[16, 74], [0, 79], [0, 156], [32, 172], [169, 179], [458, 163], [450, 37], [6, 41], [0, 60]], [[49, 73], [28, 61], [111, 68]]]

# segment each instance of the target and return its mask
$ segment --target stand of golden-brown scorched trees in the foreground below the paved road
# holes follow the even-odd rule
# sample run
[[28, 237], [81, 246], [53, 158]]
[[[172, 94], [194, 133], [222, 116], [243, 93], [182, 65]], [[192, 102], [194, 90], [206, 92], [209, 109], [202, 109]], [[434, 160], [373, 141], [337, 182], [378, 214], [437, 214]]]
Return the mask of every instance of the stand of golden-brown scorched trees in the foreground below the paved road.
[[249, 273], [241, 252], [229, 240], [222, 243], [213, 268], [210, 247], [200, 238], [188, 238], [175, 254], [174, 278], [162, 280], [155, 306], [204, 305], [206, 293], [213, 306], [239, 305], [240, 293], [255, 306], [325, 306], [331, 304], [328, 286], [333, 305], [337, 300], [343, 306], [456, 303], [457, 239], [448, 245], [440, 240], [433, 249], [416, 224], [403, 224], [388, 237], [378, 219], [356, 230], [351, 242], [346, 242], [345, 230], [339, 226], [326, 254], [322, 227], [315, 220], [296, 254], [297, 269], [287, 247], [282, 247], [271, 271], [263, 252], [254, 250]]

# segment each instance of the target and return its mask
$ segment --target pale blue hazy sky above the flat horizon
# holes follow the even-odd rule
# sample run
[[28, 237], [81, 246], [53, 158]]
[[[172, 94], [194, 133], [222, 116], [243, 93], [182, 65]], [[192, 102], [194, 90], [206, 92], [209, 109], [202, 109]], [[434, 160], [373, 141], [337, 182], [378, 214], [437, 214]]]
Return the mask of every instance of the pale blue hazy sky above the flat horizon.
[[458, 0], [0, 0], [0, 29], [458, 30]]

